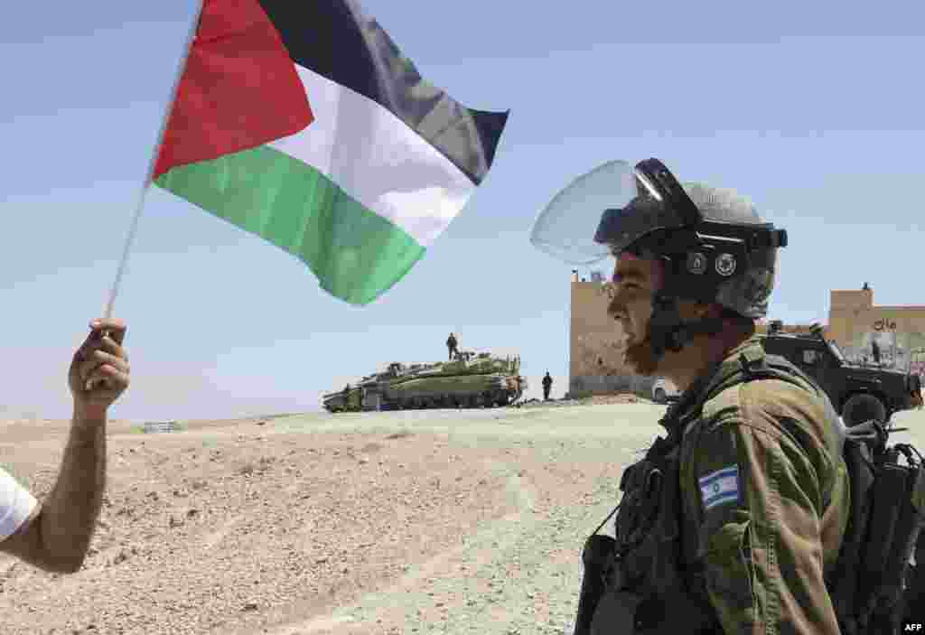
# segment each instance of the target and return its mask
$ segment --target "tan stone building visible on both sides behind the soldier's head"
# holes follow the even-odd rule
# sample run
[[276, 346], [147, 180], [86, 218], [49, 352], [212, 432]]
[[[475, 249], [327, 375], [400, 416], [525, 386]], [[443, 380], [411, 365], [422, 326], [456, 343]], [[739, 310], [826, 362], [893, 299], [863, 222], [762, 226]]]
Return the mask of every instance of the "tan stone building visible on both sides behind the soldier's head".
[[[623, 363], [623, 329], [607, 315], [608, 298], [600, 275], [579, 278], [572, 271], [569, 333], [569, 396], [614, 392], [648, 395], [654, 377], [635, 375]], [[831, 291], [829, 324], [822, 324], [850, 360], [911, 368], [925, 374], [925, 306], [873, 304], [873, 290]], [[768, 322], [758, 324], [759, 333]], [[808, 333], [812, 324], [784, 324], [787, 333]]]

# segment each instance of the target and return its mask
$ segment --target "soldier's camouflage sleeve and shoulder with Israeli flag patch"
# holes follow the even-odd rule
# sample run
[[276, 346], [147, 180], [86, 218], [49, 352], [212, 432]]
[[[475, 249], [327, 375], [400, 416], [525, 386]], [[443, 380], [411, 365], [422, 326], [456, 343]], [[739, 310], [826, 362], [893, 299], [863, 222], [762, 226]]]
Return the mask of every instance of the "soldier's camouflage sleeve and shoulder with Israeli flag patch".
[[[764, 349], [746, 341], [716, 375], [734, 372], [742, 355], [759, 359]], [[683, 558], [702, 564], [727, 634], [839, 632], [825, 576], [845, 535], [849, 483], [840, 422], [807, 388], [734, 385], [685, 426]]]

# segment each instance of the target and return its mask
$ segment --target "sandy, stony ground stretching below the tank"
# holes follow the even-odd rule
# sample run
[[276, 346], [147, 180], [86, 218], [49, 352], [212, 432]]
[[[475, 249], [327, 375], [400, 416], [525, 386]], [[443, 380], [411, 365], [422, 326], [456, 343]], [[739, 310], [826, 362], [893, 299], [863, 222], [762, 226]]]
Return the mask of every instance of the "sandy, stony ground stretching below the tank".
[[[69, 576], [0, 556], [0, 631], [571, 633], [581, 545], [663, 412], [114, 422], [92, 555]], [[925, 447], [925, 411], [896, 422]], [[0, 422], [0, 463], [41, 498], [67, 430]]]

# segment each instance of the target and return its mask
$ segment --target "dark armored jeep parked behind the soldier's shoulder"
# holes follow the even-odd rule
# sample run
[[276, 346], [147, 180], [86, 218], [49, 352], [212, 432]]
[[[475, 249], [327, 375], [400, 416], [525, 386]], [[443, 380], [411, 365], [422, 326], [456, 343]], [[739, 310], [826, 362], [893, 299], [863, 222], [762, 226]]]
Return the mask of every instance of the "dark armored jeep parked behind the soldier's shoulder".
[[787, 334], [780, 322], [774, 322], [761, 341], [769, 355], [779, 355], [812, 376], [845, 425], [888, 421], [895, 412], [921, 404], [918, 375], [853, 363], [835, 342], [825, 339], [818, 325], [809, 333]]

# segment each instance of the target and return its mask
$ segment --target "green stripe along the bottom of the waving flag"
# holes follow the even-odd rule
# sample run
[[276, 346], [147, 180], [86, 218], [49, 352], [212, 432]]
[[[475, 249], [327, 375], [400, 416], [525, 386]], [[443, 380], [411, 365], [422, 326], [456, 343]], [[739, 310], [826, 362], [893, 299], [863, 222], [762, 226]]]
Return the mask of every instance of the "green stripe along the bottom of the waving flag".
[[424, 255], [314, 167], [267, 146], [175, 167], [154, 183], [290, 252], [351, 304], [376, 299]]

